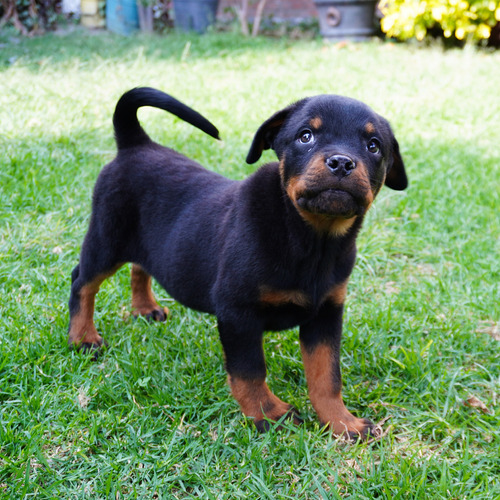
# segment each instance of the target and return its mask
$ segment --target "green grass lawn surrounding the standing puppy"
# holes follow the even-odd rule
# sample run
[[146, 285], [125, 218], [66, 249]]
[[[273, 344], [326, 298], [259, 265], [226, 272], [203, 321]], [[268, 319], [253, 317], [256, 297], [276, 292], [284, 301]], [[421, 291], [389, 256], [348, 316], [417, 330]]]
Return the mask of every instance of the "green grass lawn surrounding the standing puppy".
[[[0, 498], [500, 499], [500, 52], [13, 36], [0, 34]], [[92, 187], [116, 100], [138, 85], [212, 120], [221, 143], [140, 112], [155, 140], [232, 178], [255, 168], [257, 127], [307, 95], [390, 120], [410, 188], [383, 190], [365, 222], [342, 356], [346, 404], [382, 439], [322, 432], [293, 330], [266, 336], [268, 382], [304, 424], [259, 435], [229, 394], [215, 318], [157, 287], [170, 319], [132, 320], [127, 268], [98, 295], [110, 348], [97, 362], [68, 350]]]

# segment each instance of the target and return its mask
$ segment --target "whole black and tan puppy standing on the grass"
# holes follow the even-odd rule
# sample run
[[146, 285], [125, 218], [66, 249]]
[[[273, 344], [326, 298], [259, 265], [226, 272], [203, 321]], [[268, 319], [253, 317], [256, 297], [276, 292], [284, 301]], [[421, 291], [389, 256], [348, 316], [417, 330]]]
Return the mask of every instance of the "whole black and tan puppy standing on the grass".
[[231, 391], [260, 430], [266, 419], [294, 415], [266, 385], [263, 332], [298, 325], [321, 422], [337, 435], [375, 434], [369, 420], [344, 406], [339, 353], [363, 217], [384, 184], [407, 186], [387, 121], [353, 99], [303, 99], [264, 122], [248, 153], [254, 163], [272, 148], [279, 163], [233, 181], [151, 141], [137, 120], [141, 106], [218, 137], [210, 122], [160, 91], [139, 88], [120, 99], [118, 155], [95, 186], [72, 275], [70, 344], [103, 344], [93, 322], [95, 295], [132, 262], [134, 314], [165, 319], [151, 292], [153, 276], [179, 302], [217, 317]]

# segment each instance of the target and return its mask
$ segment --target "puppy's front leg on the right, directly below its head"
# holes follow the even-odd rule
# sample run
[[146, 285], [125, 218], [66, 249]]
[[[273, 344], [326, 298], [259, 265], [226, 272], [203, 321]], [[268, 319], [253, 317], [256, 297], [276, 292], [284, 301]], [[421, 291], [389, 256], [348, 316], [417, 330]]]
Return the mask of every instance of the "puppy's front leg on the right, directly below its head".
[[300, 328], [309, 398], [322, 425], [328, 424], [335, 435], [366, 439], [376, 435], [374, 424], [352, 415], [342, 400], [342, 313], [342, 305], [325, 303], [318, 316]]

